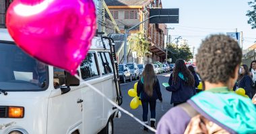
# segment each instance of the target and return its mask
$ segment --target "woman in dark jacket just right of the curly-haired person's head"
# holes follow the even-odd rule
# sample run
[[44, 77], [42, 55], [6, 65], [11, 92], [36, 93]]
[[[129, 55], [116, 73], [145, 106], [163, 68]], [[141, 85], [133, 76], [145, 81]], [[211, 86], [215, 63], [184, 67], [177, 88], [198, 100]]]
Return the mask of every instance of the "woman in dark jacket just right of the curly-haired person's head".
[[251, 80], [250, 72], [246, 64], [243, 64], [239, 69], [237, 84], [238, 88], [244, 88], [245, 94], [252, 98], [251, 86], [253, 85], [253, 80]]

